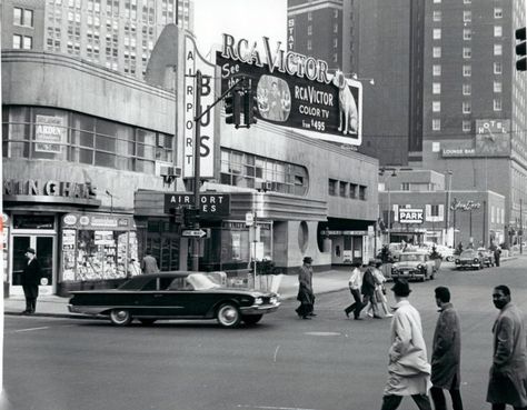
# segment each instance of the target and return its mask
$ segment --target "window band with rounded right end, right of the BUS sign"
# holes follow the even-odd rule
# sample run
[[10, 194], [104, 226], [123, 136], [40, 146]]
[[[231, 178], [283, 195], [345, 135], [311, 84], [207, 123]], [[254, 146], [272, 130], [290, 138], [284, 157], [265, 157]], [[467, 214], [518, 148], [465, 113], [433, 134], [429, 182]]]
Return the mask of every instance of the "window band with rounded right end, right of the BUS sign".
[[309, 177], [305, 167], [221, 148], [222, 184], [306, 196]]

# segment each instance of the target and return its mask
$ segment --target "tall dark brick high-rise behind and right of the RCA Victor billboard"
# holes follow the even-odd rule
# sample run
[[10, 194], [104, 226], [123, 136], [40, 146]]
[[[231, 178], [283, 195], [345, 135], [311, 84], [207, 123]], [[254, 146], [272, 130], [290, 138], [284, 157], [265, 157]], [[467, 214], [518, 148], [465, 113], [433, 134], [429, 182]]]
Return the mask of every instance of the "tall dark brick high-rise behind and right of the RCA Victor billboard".
[[[359, 151], [385, 166], [449, 170], [453, 189], [504, 194], [505, 214], [495, 218], [513, 236], [527, 224], [527, 80], [515, 70], [514, 50], [525, 7], [525, 0], [347, 0], [336, 58], [345, 72], [375, 79], [364, 81]], [[291, 19], [290, 42], [300, 51], [308, 37]], [[325, 34], [319, 22], [311, 26], [311, 37]]]

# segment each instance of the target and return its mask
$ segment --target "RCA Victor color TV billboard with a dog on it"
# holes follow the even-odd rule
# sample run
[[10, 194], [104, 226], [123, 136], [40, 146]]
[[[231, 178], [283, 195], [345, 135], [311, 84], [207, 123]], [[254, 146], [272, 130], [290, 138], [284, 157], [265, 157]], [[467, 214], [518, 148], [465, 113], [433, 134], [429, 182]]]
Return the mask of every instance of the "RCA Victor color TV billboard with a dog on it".
[[280, 49], [269, 39], [259, 44], [223, 34], [216, 54], [221, 92], [238, 79], [250, 80], [259, 120], [294, 128], [331, 142], [359, 146], [362, 140], [362, 87], [341, 71], [329, 72], [326, 61]]

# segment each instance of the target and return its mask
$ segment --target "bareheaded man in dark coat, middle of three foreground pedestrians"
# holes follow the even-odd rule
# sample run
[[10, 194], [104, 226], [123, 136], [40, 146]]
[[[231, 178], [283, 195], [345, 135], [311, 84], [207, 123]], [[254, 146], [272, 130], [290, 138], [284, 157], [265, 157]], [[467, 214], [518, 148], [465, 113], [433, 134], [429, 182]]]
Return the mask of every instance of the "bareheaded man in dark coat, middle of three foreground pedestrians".
[[446, 287], [435, 289], [439, 308], [431, 352], [430, 394], [436, 410], [446, 410], [443, 389], [450, 392], [454, 410], [463, 410], [460, 386], [461, 327], [459, 317], [450, 303], [450, 291]]

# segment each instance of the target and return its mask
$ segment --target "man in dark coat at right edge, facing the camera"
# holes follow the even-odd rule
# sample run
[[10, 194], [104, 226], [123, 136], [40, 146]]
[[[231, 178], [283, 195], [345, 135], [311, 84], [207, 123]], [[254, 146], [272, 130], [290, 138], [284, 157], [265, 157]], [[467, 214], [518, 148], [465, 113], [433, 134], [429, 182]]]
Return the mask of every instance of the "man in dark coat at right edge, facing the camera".
[[508, 287], [494, 288], [493, 302], [499, 313], [493, 327], [494, 353], [487, 391], [493, 410], [505, 410], [506, 404], [515, 410], [527, 409], [524, 313], [510, 299]]

